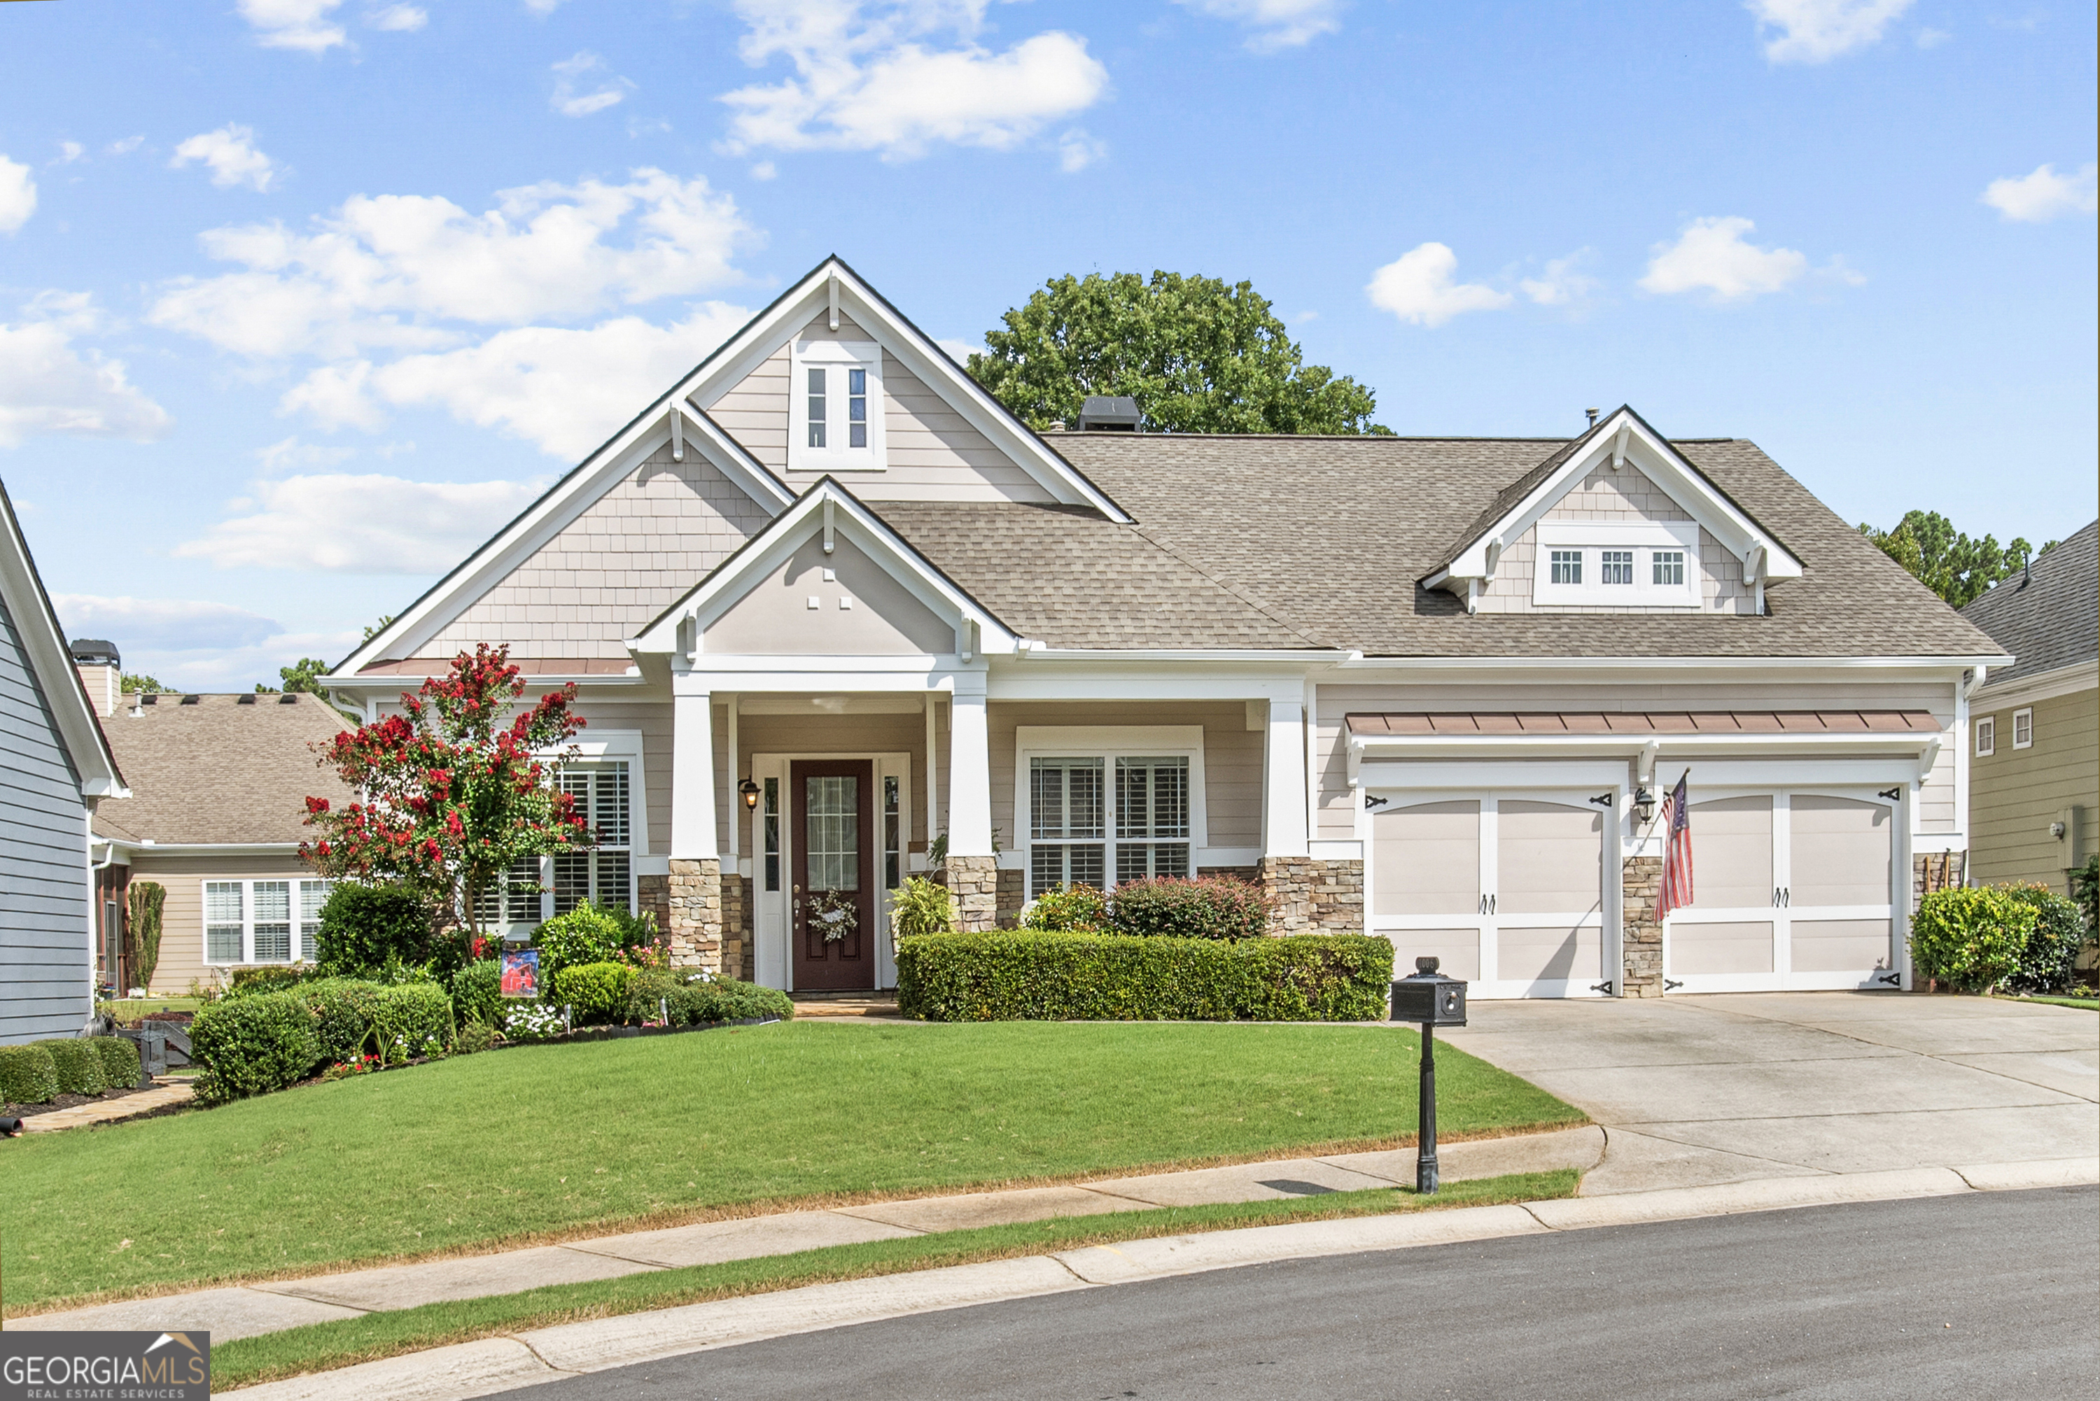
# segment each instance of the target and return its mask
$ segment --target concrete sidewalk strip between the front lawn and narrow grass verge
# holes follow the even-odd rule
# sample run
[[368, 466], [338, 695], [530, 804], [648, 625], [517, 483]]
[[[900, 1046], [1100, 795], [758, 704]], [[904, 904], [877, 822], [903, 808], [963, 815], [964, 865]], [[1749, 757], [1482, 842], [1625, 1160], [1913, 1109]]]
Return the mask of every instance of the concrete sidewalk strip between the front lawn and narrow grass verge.
[[[1604, 1130], [1569, 1128], [1552, 1134], [1445, 1143], [1438, 1164], [1445, 1180], [1508, 1172], [1588, 1172], [1604, 1157]], [[317, 1275], [275, 1283], [229, 1285], [191, 1294], [164, 1294], [67, 1313], [8, 1319], [10, 1330], [158, 1330], [210, 1332], [214, 1342], [252, 1338], [302, 1323], [326, 1323], [384, 1309], [414, 1309], [439, 1300], [517, 1294], [548, 1283], [613, 1279], [687, 1264], [720, 1264], [794, 1254], [821, 1246], [901, 1239], [934, 1231], [998, 1227], [1052, 1216], [1142, 1212], [1159, 1206], [1212, 1201], [1275, 1201], [1327, 1191], [1413, 1185], [1415, 1151], [1336, 1153], [1285, 1157], [1231, 1168], [1155, 1172], [1067, 1187], [1023, 1187], [951, 1197], [914, 1197], [842, 1206], [827, 1212], [785, 1212], [710, 1220], [666, 1231], [636, 1231], [563, 1246], [533, 1246], [485, 1256], [456, 1256], [420, 1264]]]

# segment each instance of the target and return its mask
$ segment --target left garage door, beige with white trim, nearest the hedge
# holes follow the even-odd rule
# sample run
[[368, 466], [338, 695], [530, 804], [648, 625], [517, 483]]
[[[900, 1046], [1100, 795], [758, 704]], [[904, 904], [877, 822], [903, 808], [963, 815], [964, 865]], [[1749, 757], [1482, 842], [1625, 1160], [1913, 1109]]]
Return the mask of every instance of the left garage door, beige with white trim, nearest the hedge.
[[1371, 933], [1403, 977], [1434, 954], [1472, 998], [1598, 996], [1609, 832], [1571, 794], [1392, 796], [1371, 815]]

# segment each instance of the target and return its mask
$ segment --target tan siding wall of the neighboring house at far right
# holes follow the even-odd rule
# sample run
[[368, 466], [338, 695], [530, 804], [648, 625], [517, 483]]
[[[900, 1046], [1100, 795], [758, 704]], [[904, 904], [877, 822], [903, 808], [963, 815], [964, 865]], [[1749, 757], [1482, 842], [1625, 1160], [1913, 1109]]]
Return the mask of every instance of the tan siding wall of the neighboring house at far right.
[[[2064, 891], [2064, 867], [2100, 851], [2100, 691], [2035, 702], [2035, 744], [2012, 748], [2014, 706], [1980, 699], [1997, 718], [1997, 752], [1970, 758], [1970, 880], [2039, 880]], [[2079, 851], [2050, 836], [2079, 807]]]

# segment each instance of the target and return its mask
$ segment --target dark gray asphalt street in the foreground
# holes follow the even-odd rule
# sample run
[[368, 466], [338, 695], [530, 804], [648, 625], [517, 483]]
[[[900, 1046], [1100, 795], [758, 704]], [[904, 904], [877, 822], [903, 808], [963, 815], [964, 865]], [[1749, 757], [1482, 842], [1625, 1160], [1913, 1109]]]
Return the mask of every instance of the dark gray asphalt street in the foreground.
[[1289, 1260], [775, 1338], [508, 1393], [2090, 1397], [2100, 1191], [1976, 1193]]

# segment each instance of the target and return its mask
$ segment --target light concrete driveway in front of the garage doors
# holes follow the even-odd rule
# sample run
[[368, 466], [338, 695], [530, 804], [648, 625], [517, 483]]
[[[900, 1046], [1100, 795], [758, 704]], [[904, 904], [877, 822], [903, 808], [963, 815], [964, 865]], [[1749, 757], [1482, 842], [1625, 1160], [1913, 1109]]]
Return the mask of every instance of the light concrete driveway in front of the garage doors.
[[1604, 1126], [1583, 1195], [2092, 1159], [2100, 1015], [1991, 998], [1476, 1002], [1447, 1033]]

